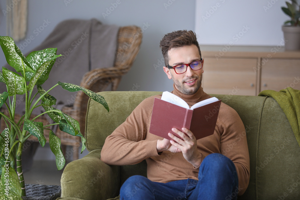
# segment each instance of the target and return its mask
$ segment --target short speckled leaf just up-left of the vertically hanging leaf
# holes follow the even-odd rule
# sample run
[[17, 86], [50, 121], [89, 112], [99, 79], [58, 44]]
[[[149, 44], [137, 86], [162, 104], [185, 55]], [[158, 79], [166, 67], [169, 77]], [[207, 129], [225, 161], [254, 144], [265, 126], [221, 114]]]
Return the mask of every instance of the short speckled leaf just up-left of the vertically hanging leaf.
[[38, 138], [38, 141], [44, 147], [46, 143], [46, 138], [44, 136], [43, 122], [30, 121], [28, 119], [24, 120], [24, 129], [30, 134]]

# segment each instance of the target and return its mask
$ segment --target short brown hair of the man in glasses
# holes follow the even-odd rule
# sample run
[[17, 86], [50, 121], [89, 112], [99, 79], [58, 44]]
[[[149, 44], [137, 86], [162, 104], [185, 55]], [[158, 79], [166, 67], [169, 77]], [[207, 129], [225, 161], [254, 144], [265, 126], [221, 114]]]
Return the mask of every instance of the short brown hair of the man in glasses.
[[190, 46], [192, 44], [197, 46], [201, 57], [201, 51], [197, 41], [196, 33], [193, 31], [182, 30], [165, 34], [159, 46], [161, 47], [161, 52], [164, 56], [166, 66], [169, 65], [168, 52], [170, 49], [182, 46]]

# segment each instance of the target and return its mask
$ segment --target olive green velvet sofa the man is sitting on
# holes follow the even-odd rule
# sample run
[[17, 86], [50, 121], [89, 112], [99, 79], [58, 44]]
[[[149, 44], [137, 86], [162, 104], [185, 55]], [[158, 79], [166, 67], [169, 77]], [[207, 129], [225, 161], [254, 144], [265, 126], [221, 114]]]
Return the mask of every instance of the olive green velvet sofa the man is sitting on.
[[[85, 138], [89, 154], [67, 164], [61, 176], [64, 200], [118, 199], [120, 186], [132, 175], [146, 176], [146, 161], [109, 166], [100, 160], [105, 138], [145, 98], [162, 92], [107, 91], [98, 93], [110, 112], [89, 100]], [[300, 199], [300, 147], [277, 102], [271, 97], [212, 95], [240, 115], [250, 154], [250, 183], [244, 199]], [[232, 148], [232, 147], [229, 147]], [[115, 198], [116, 197], [116, 198]]]

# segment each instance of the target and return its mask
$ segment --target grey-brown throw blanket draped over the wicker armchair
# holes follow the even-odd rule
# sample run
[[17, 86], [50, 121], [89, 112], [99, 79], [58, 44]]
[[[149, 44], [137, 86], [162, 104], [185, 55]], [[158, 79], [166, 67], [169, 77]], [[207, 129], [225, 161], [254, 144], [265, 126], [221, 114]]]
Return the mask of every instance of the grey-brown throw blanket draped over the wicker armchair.
[[[63, 56], [56, 59], [49, 74], [49, 79], [43, 85], [47, 91], [58, 81], [80, 84], [82, 76], [95, 68], [113, 67], [119, 27], [105, 25], [97, 19], [80, 20], [70, 19], [60, 22], [51, 34], [35, 49], [37, 51], [46, 48], [57, 48], [57, 54]], [[23, 52], [25, 56], [29, 52]], [[10, 66], [5, 66], [15, 71]], [[6, 91], [5, 84], [0, 83], [0, 93]], [[69, 105], [74, 102], [76, 93], [68, 92], [57, 86], [49, 94], [54, 96], [56, 108]], [[25, 98], [17, 97], [16, 113], [22, 113], [25, 107]], [[38, 95], [39, 96], [39, 95]], [[24, 104], [24, 105], [23, 105]], [[60, 105], [58, 105], [60, 104]], [[43, 108], [36, 109], [34, 114], [43, 112]]]

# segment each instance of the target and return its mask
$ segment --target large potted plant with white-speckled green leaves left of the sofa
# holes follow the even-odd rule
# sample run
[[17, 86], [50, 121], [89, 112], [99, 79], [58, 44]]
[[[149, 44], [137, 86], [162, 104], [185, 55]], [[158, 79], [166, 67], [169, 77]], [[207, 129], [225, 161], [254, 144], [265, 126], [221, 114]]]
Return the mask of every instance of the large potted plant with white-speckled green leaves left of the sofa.
[[[81, 152], [85, 149], [85, 138], [80, 133], [78, 121], [52, 107], [55, 105], [56, 99], [49, 92], [58, 85], [70, 92], [83, 91], [101, 103], [107, 111], [109, 108], [102, 96], [78, 85], [58, 82], [46, 90], [46, 87], [42, 87], [49, 77], [55, 59], [61, 56], [56, 55], [56, 48], [34, 51], [25, 57], [11, 37], [0, 36], [0, 45], [7, 63], [16, 70], [13, 72], [2, 67], [2, 73], [0, 72], [0, 82], [2, 82], [0, 84], [7, 86], [7, 92], [0, 94], [0, 107], [6, 106], [9, 112], [8, 116], [0, 112], [0, 118], [4, 119], [7, 126], [0, 134], [0, 199], [19, 200], [22, 199], [22, 196], [26, 196], [21, 162], [24, 142], [30, 136], [37, 137], [40, 144], [44, 146], [46, 143], [44, 130], [51, 125], [58, 124], [60, 130], [81, 137]], [[38, 92], [33, 94], [35, 87]], [[26, 96], [25, 114], [18, 122], [15, 122], [16, 95], [23, 94]], [[35, 101], [35, 97], [38, 97], [38, 100]], [[39, 106], [43, 106], [45, 112], [30, 120], [32, 111]], [[43, 125], [42, 122], [35, 121], [39, 116], [45, 114], [49, 115], [55, 123]], [[52, 130], [49, 132], [49, 145], [55, 154], [57, 168], [60, 170], [65, 165], [65, 159], [61, 151], [60, 139]]]

